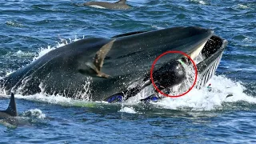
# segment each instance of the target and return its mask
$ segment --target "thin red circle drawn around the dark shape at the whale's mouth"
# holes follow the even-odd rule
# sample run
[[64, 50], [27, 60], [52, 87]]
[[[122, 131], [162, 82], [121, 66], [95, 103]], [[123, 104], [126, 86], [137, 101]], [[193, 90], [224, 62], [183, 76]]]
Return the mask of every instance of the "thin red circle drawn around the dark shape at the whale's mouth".
[[[179, 94], [179, 95], [169, 95], [169, 94], [163, 93], [163, 92], [162, 92], [161, 90], [159, 90], [158, 87], [155, 85], [154, 79], [153, 79], [154, 65], [156, 64], [156, 62], [158, 62], [158, 59], [161, 58], [162, 56], [166, 55], [166, 54], [173, 54], [173, 53], [183, 54], [183, 55], [185, 55], [187, 58], [189, 58], [190, 61], [193, 63], [193, 67], [194, 67], [194, 70], [195, 70], [195, 78], [194, 78], [194, 83], [193, 83], [193, 85], [192, 85], [192, 86], [190, 87], [190, 89], [187, 90], [185, 93]], [[195, 83], [197, 82], [197, 79], [198, 79], [198, 68], [197, 68], [195, 62], [193, 61], [192, 58], [190, 58], [190, 56], [189, 56], [188, 54], [186, 54], [186, 53], [184, 53], [184, 52], [182, 52], [182, 51], [178, 51], [178, 50], [175, 50], [175, 51], [166, 51], [165, 53], [160, 54], [160, 55], [158, 56], [158, 58], [156, 58], [156, 59], [154, 60], [152, 66], [151, 66], [151, 69], [150, 69], [150, 80], [151, 80], [151, 82], [152, 82], [154, 88], [158, 91], [158, 93], [160, 93], [160, 94], [162, 94], [162, 95], [164, 95], [164, 96], [166, 96], [166, 97], [170, 97], [170, 98], [178, 98], [178, 97], [184, 96], [185, 94], [189, 93], [190, 90], [192, 90], [193, 87], [195, 86]]]

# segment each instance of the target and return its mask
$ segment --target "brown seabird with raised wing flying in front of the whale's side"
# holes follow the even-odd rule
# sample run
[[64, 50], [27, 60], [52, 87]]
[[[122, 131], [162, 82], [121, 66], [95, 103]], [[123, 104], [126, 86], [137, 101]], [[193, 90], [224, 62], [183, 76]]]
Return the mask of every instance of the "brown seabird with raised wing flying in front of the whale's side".
[[102, 73], [102, 66], [104, 63], [104, 59], [106, 58], [106, 54], [110, 51], [113, 46], [115, 40], [108, 42], [106, 45], [102, 46], [100, 50], [97, 51], [94, 58], [94, 66], [90, 66], [96, 73], [98, 77], [109, 78], [110, 75]]

